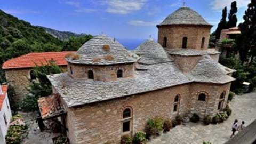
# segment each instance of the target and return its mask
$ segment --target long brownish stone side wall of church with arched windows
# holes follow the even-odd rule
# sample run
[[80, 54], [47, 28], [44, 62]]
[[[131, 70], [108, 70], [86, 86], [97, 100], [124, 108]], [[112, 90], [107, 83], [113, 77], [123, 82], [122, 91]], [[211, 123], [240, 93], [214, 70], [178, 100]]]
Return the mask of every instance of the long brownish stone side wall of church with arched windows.
[[[148, 118], [164, 116], [174, 118], [178, 115], [217, 112], [222, 91], [228, 94], [230, 84], [185, 84], [167, 89], [132, 95], [109, 101], [102, 101], [68, 109], [68, 137], [71, 143], [105, 143], [113, 140], [119, 143], [122, 133], [122, 113], [125, 108], [132, 109], [132, 134], [143, 131]], [[206, 92], [207, 101], [198, 102], [198, 94]], [[179, 112], [173, 112], [175, 95], [180, 95]], [[225, 106], [227, 95], [225, 99]], [[225, 107], [223, 106], [223, 107]], [[206, 113], [205, 113], [206, 111]]]

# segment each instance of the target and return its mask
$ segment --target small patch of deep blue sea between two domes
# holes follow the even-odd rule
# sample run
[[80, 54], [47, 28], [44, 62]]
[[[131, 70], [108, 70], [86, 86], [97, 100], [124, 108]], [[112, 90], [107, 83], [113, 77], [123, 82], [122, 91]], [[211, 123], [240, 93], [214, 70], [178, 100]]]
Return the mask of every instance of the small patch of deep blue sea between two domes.
[[146, 41], [146, 39], [117, 39], [128, 50], [136, 49], [140, 44]]

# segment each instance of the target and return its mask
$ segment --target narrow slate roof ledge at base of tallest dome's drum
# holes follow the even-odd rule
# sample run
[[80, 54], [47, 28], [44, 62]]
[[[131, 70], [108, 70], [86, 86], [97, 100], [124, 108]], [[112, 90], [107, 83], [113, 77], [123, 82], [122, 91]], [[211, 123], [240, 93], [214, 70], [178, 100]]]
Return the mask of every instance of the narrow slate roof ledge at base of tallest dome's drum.
[[170, 55], [180, 55], [180, 56], [199, 56], [206, 54], [220, 54], [220, 52], [215, 49], [208, 50], [195, 50], [195, 49], [165, 49]]

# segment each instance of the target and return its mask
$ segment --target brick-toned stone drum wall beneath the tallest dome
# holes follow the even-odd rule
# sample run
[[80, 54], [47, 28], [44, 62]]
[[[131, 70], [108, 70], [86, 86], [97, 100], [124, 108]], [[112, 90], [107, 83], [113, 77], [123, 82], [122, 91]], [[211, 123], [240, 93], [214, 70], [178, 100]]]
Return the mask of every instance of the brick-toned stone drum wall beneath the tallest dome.
[[210, 39], [209, 26], [196, 26], [196, 25], [172, 25], [158, 27], [158, 43], [163, 46], [164, 37], [167, 38], [166, 47], [169, 49], [178, 49], [182, 47], [183, 37], [187, 37], [187, 48], [201, 49], [202, 38], [205, 38], [204, 48], [206, 50], [209, 45]]

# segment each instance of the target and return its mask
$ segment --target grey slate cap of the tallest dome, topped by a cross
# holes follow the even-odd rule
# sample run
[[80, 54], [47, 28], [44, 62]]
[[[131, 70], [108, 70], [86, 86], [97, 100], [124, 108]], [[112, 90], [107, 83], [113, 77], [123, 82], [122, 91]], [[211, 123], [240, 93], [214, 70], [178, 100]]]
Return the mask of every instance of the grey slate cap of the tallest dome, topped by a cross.
[[165, 20], [157, 26], [164, 25], [206, 25], [211, 26], [206, 22], [201, 15], [189, 7], [180, 7], [180, 9], [168, 15]]

